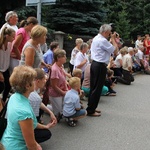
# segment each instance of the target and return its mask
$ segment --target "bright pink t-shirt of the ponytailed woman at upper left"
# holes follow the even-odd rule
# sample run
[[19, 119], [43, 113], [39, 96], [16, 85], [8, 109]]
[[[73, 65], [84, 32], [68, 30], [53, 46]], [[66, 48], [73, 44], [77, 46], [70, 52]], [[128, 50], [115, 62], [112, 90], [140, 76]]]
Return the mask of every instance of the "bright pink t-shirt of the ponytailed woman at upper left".
[[19, 34], [22, 34], [22, 42], [20, 43], [18, 49], [20, 51], [20, 53], [22, 52], [22, 48], [23, 46], [25, 45], [25, 43], [30, 39], [30, 35], [28, 32], [26, 32], [26, 30], [24, 28], [20, 28], [18, 29], [18, 31], [16, 32], [16, 37], [19, 35]]

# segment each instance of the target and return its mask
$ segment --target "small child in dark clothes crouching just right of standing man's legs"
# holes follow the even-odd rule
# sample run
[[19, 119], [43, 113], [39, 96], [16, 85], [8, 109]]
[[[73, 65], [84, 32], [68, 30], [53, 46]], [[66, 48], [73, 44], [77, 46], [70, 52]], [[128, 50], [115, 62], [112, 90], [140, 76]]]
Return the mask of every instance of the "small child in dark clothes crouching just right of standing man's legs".
[[108, 87], [108, 94], [109, 96], [116, 96], [116, 91], [113, 90], [115, 86], [116, 79], [114, 78], [114, 71], [111, 69], [107, 70], [107, 76], [105, 81], [105, 86]]

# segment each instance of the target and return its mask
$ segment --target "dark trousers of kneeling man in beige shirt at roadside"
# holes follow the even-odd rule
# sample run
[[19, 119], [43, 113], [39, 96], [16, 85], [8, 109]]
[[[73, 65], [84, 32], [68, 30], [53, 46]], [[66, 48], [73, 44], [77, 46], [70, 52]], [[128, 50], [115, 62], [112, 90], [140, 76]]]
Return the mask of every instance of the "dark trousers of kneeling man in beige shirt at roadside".
[[123, 77], [117, 77], [117, 81], [126, 85], [130, 85], [134, 81], [134, 77], [127, 70], [122, 70]]

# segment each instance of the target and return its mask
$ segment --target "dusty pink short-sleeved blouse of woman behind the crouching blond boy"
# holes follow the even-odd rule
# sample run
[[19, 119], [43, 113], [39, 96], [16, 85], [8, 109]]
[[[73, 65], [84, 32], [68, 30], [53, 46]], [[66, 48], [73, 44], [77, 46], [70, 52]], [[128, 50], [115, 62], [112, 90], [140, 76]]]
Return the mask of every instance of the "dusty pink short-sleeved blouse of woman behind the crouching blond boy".
[[[63, 91], [68, 90], [64, 69], [63, 67], [59, 67], [56, 63], [54, 63], [51, 68], [51, 79], [58, 79], [59, 81], [57, 83], [57, 86]], [[50, 87], [49, 89], [49, 94], [52, 97], [62, 96], [59, 93], [57, 93], [52, 87]]]

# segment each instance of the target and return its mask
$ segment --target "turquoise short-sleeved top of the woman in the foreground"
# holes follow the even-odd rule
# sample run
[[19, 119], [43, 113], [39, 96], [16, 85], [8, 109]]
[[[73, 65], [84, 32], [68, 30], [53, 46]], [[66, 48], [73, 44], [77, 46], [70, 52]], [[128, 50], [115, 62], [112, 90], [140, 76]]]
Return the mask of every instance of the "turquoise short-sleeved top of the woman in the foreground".
[[31, 118], [36, 128], [37, 120], [29, 103], [22, 94], [13, 94], [7, 106], [7, 127], [1, 139], [6, 150], [27, 150], [19, 121]]

